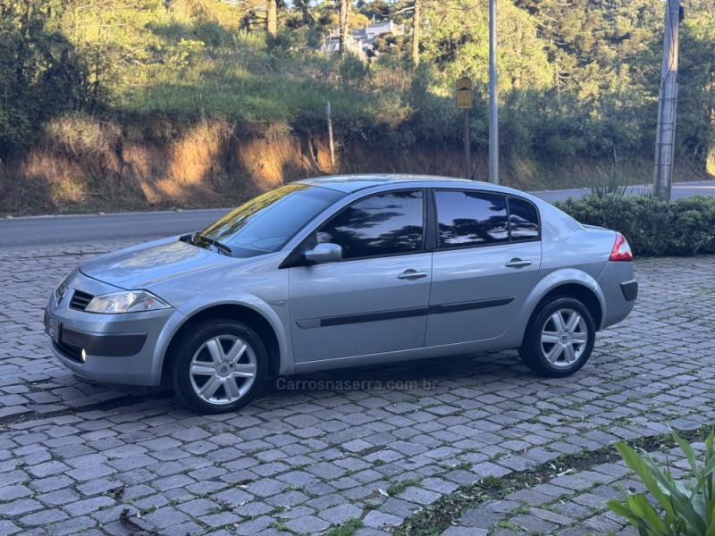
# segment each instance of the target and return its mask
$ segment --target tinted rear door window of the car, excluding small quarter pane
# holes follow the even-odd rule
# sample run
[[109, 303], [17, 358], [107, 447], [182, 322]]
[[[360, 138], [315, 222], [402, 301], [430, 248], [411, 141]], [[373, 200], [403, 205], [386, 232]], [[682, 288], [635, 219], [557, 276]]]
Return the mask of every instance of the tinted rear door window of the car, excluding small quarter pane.
[[509, 241], [506, 199], [472, 191], [434, 192], [439, 247], [482, 246]]

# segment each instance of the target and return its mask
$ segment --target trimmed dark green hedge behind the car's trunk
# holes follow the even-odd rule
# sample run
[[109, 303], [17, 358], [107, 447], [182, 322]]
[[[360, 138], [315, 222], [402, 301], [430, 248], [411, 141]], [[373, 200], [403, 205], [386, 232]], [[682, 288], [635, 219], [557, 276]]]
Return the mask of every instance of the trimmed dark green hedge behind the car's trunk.
[[694, 196], [666, 203], [658, 197], [569, 197], [555, 203], [581, 223], [618, 230], [634, 255], [715, 254], [715, 197]]

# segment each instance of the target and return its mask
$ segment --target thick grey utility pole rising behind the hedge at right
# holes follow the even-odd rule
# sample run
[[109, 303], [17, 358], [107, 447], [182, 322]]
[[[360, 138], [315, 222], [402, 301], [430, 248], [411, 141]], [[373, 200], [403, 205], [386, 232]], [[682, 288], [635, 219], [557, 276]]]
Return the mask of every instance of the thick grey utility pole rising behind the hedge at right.
[[663, 63], [658, 96], [658, 126], [655, 133], [655, 170], [653, 191], [666, 201], [670, 200], [673, 179], [673, 159], [676, 147], [677, 108], [677, 45], [680, 24], [680, 0], [667, 0], [665, 6], [665, 34], [663, 36]]

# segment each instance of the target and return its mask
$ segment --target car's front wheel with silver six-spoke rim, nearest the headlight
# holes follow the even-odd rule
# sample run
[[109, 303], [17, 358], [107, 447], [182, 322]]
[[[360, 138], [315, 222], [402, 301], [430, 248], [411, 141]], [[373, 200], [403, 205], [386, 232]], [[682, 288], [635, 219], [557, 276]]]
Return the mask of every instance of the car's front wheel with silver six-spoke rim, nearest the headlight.
[[265, 345], [240, 322], [206, 320], [185, 333], [175, 348], [173, 390], [198, 414], [236, 411], [263, 387]]

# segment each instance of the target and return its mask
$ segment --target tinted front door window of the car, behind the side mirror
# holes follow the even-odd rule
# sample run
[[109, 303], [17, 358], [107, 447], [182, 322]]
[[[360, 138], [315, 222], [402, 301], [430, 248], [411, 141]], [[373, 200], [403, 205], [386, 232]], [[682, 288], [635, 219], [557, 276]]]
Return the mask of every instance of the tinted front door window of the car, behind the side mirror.
[[346, 259], [422, 249], [422, 190], [368, 197], [349, 206], [318, 230], [319, 243], [342, 247]]

